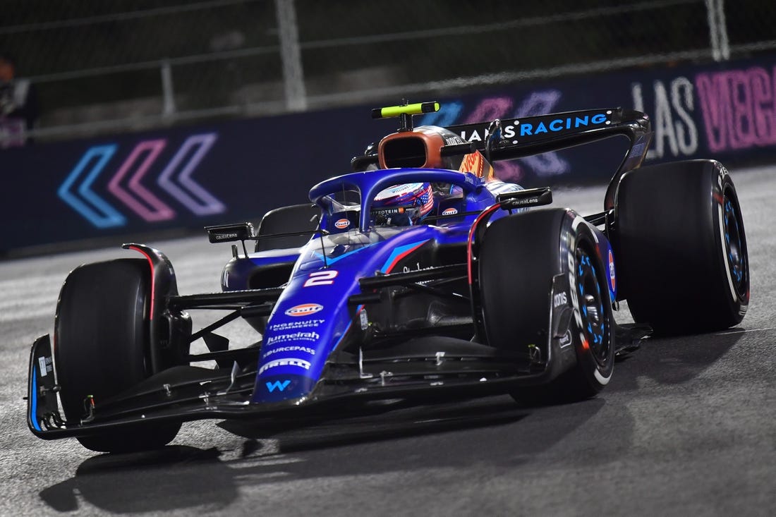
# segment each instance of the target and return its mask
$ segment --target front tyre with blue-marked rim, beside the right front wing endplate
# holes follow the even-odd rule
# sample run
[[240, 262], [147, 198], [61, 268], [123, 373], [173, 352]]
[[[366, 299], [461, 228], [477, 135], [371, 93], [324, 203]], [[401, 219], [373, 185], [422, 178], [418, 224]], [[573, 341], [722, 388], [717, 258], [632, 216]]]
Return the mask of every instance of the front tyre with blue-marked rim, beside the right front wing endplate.
[[569, 279], [565, 298], [573, 309], [568, 328], [573, 366], [549, 383], [514, 390], [512, 396], [522, 404], [584, 400], [611, 379], [614, 317], [608, 276], [595, 242], [580, 217], [572, 219], [566, 210], [554, 209], [504, 217], [485, 233], [479, 279], [490, 345], [528, 351], [531, 344], [547, 343], [553, 277], [563, 274]]

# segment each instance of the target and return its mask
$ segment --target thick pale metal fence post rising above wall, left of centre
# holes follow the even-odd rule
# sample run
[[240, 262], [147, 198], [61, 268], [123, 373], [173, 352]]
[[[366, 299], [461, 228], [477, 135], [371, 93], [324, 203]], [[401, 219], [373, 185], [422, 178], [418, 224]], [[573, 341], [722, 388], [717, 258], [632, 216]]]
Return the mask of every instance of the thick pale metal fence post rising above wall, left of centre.
[[278, 16], [280, 59], [283, 68], [286, 106], [291, 111], [303, 111], [307, 109], [307, 92], [304, 88], [299, 27], [296, 25], [296, 8], [293, 0], [275, 0], [275, 12]]

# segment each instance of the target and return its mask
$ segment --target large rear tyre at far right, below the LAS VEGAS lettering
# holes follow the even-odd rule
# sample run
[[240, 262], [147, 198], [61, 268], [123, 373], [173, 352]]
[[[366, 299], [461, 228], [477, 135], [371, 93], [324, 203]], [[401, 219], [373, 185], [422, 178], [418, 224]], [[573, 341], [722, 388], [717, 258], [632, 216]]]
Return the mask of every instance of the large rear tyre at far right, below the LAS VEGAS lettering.
[[749, 305], [747, 238], [736, 187], [717, 161], [656, 165], [622, 177], [615, 201], [621, 295], [656, 332], [739, 324]]

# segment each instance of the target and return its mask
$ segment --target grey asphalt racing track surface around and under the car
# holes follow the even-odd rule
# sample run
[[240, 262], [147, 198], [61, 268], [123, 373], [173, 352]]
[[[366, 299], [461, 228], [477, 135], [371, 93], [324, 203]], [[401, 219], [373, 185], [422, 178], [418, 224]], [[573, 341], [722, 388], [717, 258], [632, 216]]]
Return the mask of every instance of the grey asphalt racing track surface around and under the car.
[[[0, 515], [776, 515], [776, 168], [733, 179], [752, 277], [743, 324], [650, 340], [593, 400], [491, 397], [296, 430], [196, 422], [156, 453], [98, 455], [25, 423], [29, 345], [51, 330], [64, 276], [128, 252], [2, 262]], [[592, 212], [602, 193], [556, 205]], [[182, 293], [217, 290], [228, 246], [149, 244]], [[662, 287], [681, 311], [681, 286]]]

